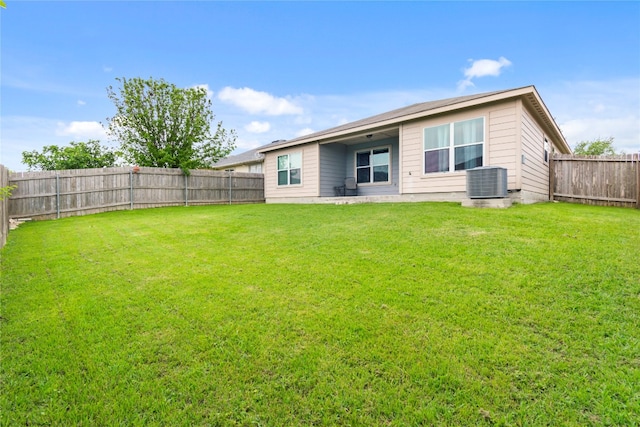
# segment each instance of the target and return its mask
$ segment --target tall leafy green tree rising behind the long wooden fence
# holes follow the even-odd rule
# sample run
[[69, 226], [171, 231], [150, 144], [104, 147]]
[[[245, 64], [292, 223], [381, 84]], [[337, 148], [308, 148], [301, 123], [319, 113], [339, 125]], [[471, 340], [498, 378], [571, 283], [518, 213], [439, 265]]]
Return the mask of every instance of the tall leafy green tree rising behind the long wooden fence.
[[[121, 144], [125, 159], [140, 166], [207, 168], [235, 148], [235, 131], [215, 118], [207, 91], [181, 89], [165, 80], [117, 78], [121, 87], [107, 88], [117, 113], [108, 132]], [[212, 133], [213, 132], [213, 133]]]

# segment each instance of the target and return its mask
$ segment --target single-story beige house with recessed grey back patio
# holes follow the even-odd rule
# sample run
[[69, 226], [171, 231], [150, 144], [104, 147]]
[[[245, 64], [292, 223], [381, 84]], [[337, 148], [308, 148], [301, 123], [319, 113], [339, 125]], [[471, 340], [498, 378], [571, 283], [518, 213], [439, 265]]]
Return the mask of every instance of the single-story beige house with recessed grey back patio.
[[466, 172], [506, 169], [514, 202], [549, 200], [549, 159], [571, 153], [534, 86], [430, 101], [276, 141], [264, 155], [267, 203], [335, 202], [355, 178], [366, 201], [462, 201]]

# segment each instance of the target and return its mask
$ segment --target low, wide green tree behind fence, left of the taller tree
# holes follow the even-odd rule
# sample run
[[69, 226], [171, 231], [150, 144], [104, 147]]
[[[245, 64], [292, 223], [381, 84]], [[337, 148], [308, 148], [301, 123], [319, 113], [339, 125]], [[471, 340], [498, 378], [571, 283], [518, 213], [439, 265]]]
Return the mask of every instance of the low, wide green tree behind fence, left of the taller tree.
[[22, 163], [29, 170], [88, 169], [116, 166], [118, 152], [100, 141], [71, 142], [66, 147], [45, 145], [42, 151], [23, 151]]

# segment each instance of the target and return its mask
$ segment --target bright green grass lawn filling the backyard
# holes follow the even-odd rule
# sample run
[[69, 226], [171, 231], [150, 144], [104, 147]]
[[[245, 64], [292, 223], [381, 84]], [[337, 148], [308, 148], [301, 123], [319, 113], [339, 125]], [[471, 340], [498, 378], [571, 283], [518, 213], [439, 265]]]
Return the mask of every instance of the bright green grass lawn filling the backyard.
[[26, 223], [2, 425], [638, 425], [640, 212], [244, 205]]

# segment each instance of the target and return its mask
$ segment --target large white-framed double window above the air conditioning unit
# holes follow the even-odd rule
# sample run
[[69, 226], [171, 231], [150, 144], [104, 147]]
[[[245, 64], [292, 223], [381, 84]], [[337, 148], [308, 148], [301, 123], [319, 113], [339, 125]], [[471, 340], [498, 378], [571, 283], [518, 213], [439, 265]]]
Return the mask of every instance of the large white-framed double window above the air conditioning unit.
[[483, 151], [483, 117], [424, 129], [424, 173], [482, 166]]

